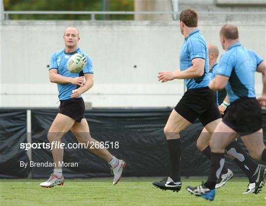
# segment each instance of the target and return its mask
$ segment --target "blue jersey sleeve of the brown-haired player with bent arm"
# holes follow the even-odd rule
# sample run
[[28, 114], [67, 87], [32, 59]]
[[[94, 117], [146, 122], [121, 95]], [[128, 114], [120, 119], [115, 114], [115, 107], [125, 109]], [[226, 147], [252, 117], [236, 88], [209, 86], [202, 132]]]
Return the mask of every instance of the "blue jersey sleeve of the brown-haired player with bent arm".
[[205, 59], [206, 50], [204, 43], [199, 39], [189, 39], [188, 51], [190, 53], [190, 60], [195, 58]]

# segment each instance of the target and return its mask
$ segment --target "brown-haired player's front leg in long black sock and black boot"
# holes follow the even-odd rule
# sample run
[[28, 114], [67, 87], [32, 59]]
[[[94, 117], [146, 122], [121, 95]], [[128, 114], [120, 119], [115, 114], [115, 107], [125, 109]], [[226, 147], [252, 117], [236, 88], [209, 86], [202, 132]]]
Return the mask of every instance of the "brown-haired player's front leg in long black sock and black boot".
[[169, 149], [171, 162], [171, 175], [162, 181], [155, 181], [153, 185], [163, 190], [172, 190], [178, 192], [181, 189], [182, 183], [180, 179], [180, 156], [181, 142], [180, 135], [183, 129], [191, 125], [187, 119], [179, 115], [175, 110], [172, 110], [164, 128], [166, 140]]

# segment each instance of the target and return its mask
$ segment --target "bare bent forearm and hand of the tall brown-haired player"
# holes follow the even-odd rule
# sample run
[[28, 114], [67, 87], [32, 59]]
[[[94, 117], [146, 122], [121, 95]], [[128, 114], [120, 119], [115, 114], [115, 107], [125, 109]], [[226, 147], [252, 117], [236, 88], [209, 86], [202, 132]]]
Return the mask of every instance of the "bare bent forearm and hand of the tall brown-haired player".
[[192, 66], [184, 71], [161, 71], [158, 74], [158, 81], [167, 82], [173, 79], [192, 79], [201, 77], [204, 74], [205, 59], [192, 59]]

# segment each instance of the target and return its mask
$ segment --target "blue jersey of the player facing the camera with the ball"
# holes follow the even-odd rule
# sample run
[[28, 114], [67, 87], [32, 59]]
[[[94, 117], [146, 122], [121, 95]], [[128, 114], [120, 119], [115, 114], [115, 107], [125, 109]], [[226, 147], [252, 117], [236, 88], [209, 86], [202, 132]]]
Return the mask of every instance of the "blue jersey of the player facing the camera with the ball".
[[[71, 53], [66, 53], [65, 49], [62, 49], [58, 52], [53, 53], [51, 57], [49, 70], [57, 69], [58, 74], [65, 76], [65, 77], [78, 77], [79, 73], [71, 73], [68, 71], [67, 61], [73, 54], [76, 54], [79, 52], [82, 52], [83, 54], [85, 54], [78, 47], [76, 48], [74, 52], [71, 52]], [[87, 63], [85, 67], [83, 68], [83, 70], [81, 71], [81, 73], [83, 72], [83, 74], [93, 74], [92, 60], [87, 54], [85, 55], [87, 57]], [[72, 90], [76, 89], [77, 85], [72, 85], [70, 83], [69, 84], [57, 84], [57, 87], [59, 91], [59, 95], [58, 95], [59, 100], [66, 100], [70, 98], [72, 94]], [[81, 96], [79, 96], [79, 98], [80, 97]]]

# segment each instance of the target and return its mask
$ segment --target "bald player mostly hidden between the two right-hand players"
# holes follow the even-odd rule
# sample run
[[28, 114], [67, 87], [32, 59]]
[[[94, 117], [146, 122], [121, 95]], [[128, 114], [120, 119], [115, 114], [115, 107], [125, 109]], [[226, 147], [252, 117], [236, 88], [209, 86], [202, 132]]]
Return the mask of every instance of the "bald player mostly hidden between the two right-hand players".
[[[218, 69], [217, 58], [219, 56], [219, 50], [218, 50], [218, 47], [213, 44], [207, 44], [207, 48], [208, 48], [208, 54], [209, 54], [210, 78], [214, 79], [218, 72], [217, 71]], [[223, 88], [222, 90], [217, 91], [216, 95], [217, 95], [217, 105], [219, 106], [218, 108], [221, 112], [221, 115], [223, 116], [227, 112], [227, 106], [228, 106], [228, 103], [227, 103], [228, 97], [227, 97], [226, 89]], [[210, 138], [211, 138], [211, 134], [209, 134], [207, 130], [203, 128], [197, 141], [197, 147], [209, 159], [211, 159], [211, 150], [209, 147]], [[253, 193], [255, 191], [255, 179], [253, 177], [253, 174], [255, 170], [257, 169], [258, 164], [255, 163], [250, 158], [250, 156], [243, 150], [243, 148], [238, 144], [237, 141], [233, 141], [232, 143], [230, 143], [226, 147], [226, 150], [230, 158], [234, 160], [237, 166], [249, 178], [249, 184], [248, 184], [247, 191], [244, 192], [243, 194]], [[229, 181], [232, 177], [233, 177], [233, 172], [229, 168], [226, 168], [224, 166], [221, 171], [221, 175], [218, 178], [217, 184], [215, 185], [215, 188], [224, 186], [226, 182]]]

